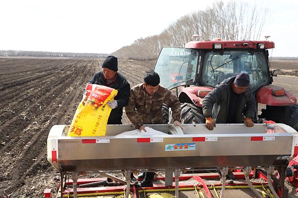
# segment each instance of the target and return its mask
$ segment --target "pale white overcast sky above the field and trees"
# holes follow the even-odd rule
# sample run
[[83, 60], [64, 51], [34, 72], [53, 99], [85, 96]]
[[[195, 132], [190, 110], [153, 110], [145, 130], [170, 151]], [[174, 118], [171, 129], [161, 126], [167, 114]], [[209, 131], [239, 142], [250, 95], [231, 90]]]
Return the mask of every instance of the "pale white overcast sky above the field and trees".
[[[0, 49], [112, 53], [215, 1], [0, 0]], [[255, 2], [269, 10], [262, 35], [272, 55], [297, 57], [298, 1]]]

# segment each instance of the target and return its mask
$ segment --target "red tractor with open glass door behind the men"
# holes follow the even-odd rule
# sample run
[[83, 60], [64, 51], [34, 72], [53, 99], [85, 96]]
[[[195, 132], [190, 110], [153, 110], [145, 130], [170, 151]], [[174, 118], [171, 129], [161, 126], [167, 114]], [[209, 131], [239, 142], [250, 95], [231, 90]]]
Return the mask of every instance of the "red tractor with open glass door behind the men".
[[278, 72], [270, 68], [268, 49], [272, 48], [271, 41], [192, 41], [185, 48], [162, 48], [154, 71], [162, 86], [176, 91], [183, 123], [205, 123], [204, 97], [224, 79], [247, 72], [256, 102], [266, 104], [254, 122], [265, 118], [298, 131], [297, 99], [284, 88], [271, 85]]

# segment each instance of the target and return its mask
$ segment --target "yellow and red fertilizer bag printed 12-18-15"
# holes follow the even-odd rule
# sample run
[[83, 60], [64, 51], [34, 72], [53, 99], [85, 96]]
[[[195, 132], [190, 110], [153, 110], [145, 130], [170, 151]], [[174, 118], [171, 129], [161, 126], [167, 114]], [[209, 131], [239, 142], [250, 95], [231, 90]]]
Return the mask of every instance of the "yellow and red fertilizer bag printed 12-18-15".
[[114, 100], [117, 90], [102, 85], [88, 84], [87, 95], [79, 103], [68, 136], [105, 136], [111, 108], [106, 103]]

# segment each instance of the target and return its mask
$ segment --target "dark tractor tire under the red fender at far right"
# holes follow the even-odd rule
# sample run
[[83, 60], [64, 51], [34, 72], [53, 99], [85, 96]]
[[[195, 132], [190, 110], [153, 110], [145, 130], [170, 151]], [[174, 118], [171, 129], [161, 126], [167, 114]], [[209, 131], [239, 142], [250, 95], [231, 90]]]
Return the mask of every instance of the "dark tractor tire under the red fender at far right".
[[298, 105], [291, 106], [270, 106], [262, 109], [261, 118], [272, 120], [276, 123], [289, 125], [298, 131]]

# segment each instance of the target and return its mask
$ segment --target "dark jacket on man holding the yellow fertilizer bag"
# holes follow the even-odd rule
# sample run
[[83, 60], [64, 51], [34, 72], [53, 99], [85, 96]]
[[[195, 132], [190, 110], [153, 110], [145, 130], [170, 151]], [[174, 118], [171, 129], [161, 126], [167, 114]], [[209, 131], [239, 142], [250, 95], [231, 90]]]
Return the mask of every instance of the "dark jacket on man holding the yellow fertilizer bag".
[[[106, 81], [103, 78], [103, 73], [101, 71], [94, 74], [94, 76], [89, 81], [89, 84], [97, 84], [107, 86]], [[108, 119], [108, 124], [122, 124], [122, 114], [123, 107], [127, 105], [130, 95], [130, 85], [126, 78], [117, 72], [117, 79], [114, 83], [107, 86], [118, 91], [117, 96], [114, 98], [117, 100], [118, 106], [112, 109], [110, 117]]]

